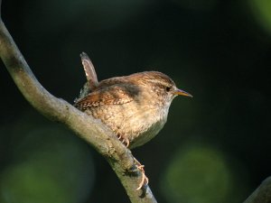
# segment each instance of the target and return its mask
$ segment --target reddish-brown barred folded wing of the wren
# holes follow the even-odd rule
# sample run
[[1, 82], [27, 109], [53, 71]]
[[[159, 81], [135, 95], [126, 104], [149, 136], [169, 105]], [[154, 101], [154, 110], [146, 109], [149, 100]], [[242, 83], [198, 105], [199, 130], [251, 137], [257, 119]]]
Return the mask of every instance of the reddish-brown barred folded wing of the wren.
[[89, 107], [98, 107], [105, 105], [123, 105], [133, 101], [136, 88], [134, 86], [110, 86], [89, 93], [76, 101], [75, 107], [81, 111], [85, 111]]

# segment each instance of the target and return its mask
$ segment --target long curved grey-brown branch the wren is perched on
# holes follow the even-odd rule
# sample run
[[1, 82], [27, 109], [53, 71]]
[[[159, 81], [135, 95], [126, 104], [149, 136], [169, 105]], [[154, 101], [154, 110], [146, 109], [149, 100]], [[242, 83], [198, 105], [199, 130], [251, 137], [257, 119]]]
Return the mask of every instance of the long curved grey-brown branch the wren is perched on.
[[[0, 8], [1, 2], [0, 0]], [[127, 172], [135, 169], [134, 157], [126, 146], [118, 141], [117, 136], [98, 120], [80, 112], [63, 99], [52, 96], [42, 87], [6, 30], [2, 18], [0, 19], [0, 57], [23, 97], [34, 108], [52, 121], [68, 126], [107, 159], [126, 189], [131, 202], [156, 202], [148, 186], [145, 186], [145, 189], [135, 190], [141, 181], [141, 173], [135, 171], [135, 175], [131, 175]]]

